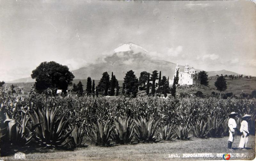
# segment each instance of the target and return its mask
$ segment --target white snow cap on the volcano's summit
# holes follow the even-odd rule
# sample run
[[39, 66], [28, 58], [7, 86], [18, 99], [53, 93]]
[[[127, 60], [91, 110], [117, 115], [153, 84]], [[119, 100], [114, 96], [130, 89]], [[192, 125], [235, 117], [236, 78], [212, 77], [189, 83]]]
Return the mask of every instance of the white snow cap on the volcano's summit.
[[114, 53], [129, 52], [129, 51], [133, 51], [133, 53], [148, 53], [146, 49], [131, 42], [124, 43], [123, 45], [117, 47], [114, 50]]

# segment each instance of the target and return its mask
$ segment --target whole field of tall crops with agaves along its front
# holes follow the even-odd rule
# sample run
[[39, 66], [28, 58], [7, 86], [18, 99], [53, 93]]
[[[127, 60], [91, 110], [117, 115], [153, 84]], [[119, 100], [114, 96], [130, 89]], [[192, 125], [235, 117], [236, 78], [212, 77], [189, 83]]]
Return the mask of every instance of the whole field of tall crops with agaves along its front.
[[[158, 97], [76, 97], [24, 94], [0, 89], [1, 146], [39, 145], [76, 148], [91, 140], [96, 145], [222, 137], [228, 114], [252, 115], [255, 135], [256, 99]], [[2, 149], [2, 148], [1, 148]]]

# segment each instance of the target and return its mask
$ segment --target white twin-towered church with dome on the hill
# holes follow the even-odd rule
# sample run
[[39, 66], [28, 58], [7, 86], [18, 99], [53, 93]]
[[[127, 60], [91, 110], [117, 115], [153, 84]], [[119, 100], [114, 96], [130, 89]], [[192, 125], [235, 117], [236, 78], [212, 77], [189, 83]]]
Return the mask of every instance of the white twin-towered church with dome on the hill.
[[175, 67], [175, 74], [173, 75], [172, 82], [170, 83], [173, 83], [174, 76], [176, 76], [178, 70], [179, 70], [178, 84], [180, 84], [180, 86], [200, 84], [199, 74], [196, 72], [196, 69], [194, 69], [194, 67], [189, 69], [188, 64], [186, 64], [186, 66], [184, 67], [184, 72], [181, 72], [178, 63]]

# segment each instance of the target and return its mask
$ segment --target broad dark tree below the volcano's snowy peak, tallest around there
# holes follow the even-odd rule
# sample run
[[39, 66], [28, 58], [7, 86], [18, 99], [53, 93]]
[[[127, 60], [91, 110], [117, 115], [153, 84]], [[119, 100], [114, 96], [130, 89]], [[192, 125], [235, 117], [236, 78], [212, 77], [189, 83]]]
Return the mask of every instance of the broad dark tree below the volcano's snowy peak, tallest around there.
[[[132, 70], [128, 71], [124, 77], [123, 89], [125, 87], [125, 94], [133, 94], [135, 97], [138, 92], [138, 79]], [[123, 90], [124, 91], [124, 90]]]

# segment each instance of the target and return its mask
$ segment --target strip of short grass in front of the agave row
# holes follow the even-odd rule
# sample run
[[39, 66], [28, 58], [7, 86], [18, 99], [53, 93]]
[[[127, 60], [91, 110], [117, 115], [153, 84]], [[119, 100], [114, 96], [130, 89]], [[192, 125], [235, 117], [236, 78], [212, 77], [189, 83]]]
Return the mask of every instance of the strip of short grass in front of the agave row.
[[[48, 150], [47, 153], [40, 151], [27, 153], [26, 160], [214, 160], [202, 157], [186, 157], [185, 154], [191, 153], [212, 153], [218, 155], [222, 160], [225, 153], [235, 155], [245, 155], [255, 157], [255, 136], [249, 136], [247, 150], [238, 150], [241, 136], [237, 136], [232, 147], [233, 151], [227, 150], [228, 137], [199, 139], [192, 137], [189, 141], [173, 140], [162, 141], [159, 143], [139, 143], [132, 145], [117, 145], [112, 147], [98, 147], [89, 144], [88, 147], [78, 148], [73, 151]], [[21, 151], [22, 152], [22, 151]], [[237, 154], [238, 153], [238, 154]], [[172, 154], [177, 156], [171, 158]], [[185, 155], [183, 157], [183, 154]], [[179, 157], [180, 156], [180, 157]], [[1, 157], [2, 160], [17, 160], [14, 155]], [[252, 160], [251, 158], [250, 160]]]

